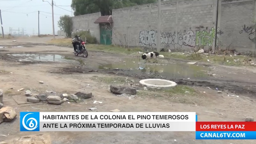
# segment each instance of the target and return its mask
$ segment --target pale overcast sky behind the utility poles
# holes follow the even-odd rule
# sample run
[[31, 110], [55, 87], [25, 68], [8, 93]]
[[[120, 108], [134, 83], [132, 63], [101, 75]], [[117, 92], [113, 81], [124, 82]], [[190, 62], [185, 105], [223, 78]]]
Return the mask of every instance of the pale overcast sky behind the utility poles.
[[[51, 3], [51, 0], [46, 0]], [[40, 34], [52, 34], [52, 9], [48, 2], [42, 0], [0, 0], [0, 9], [2, 11], [2, 22], [4, 33], [9, 33], [9, 28], [17, 29], [24, 28], [24, 33], [29, 35], [38, 33], [38, 10], [40, 12], [39, 24]], [[72, 0], [54, 0], [54, 28], [55, 34], [60, 30], [58, 27], [59, 17], [61, 15], [71, 16], [71, 2]], [[67, 11], [68, 10], [68, 11]], [[73, 14], [72, 14], [73, 16]], [[1, 33], [2, 30], [0, 29]], [[13, 31], [14, 32], [14, 31]], [[18, 33], [18, 31], [16, 31]]]

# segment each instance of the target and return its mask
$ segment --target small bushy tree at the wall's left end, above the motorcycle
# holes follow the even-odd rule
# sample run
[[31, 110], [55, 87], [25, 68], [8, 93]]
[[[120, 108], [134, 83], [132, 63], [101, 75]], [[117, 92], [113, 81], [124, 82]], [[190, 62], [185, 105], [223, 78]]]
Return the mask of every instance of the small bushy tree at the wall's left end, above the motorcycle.
[[60, 27], [60, 30], [63, 30], [66, 33], [66, 37], [71, 37], [73, 21], [69, 15], [61, 16], [58, 21], [58, 26]]

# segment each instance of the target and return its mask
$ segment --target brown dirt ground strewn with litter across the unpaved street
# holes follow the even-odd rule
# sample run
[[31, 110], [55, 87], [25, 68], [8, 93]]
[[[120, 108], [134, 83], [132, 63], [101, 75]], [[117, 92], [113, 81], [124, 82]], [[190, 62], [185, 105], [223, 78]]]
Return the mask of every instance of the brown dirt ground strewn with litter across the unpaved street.
[[[89, 51], [89, 56], [74, 56], [73, 49], [63, 46], [48, 45], [49, 37], [20, 37], [16, 39], [0, 40], [0, 46], [8, 48], [0, 49], [0, 89], [5, 91], [3, 102], [5, 106], [16, 109], [17, 118], [11, 123], [0, 124], [1, 141], [10, 140], [19, 136], [33, 134], [32, 132], [19, 131], [20, 111], [88, 111], [90, 107], [98, 107], [98, 111], [181, 111], [196, 112], [198, 121], [243, 121], [246, 116], [255, 117], [255, 87], [256, 70], [249, 67], [231, 67], [222, 65], [209, 65], [199, 63], [198, 67], [210, 68], [210, 74], [206, 76], [176, 75], [174, 73], [143, 73], [132, 69], [104, 69], [100, 65], [125, 63], [124, 60], [136, 59], [139, 55], [121, 55], [97, 51]], [[13, 42], [16, 40], [16, 42]], [[11, 48], [24, 46], [22, 48]], [[38, 61], [25, 59], [23, 55], [11, 54], [56, 54], [66, 56], [60, 61]], [[55, 58], [56, 58], [55, 57]], [[162, 59], [161, 64], [186, 64], [175, 60]], [[170, 69], [173, 69], [170, 65]], [[187, 67], [190, 67], [187, 64]], [[164, 78], [173, 80], [178, 84], [185, 84], [197, 92], [197, 96], [169, 95], [169, 98], [161, 96], [140, 95], [134, 99], [113, 95], [109, 91], [109, 83], [99, 81], [101, 77], [122, 76], [129, 80], [145, 78]], [[188, 77], [191, 76], [191, 77]], [[44, 84], [39, 84], [39, 81]], [[111, 80], [111, 79], [110, 79]], [[209, 88], [206, 88], [209, 87]], [[12, 89], [11, 89], [12, 88]], [[86, 102], [75, 103], [74, 106], [67, 102], [61, 105], [50, 104], [17, 104], [14, 98], [26, 101], [24, 92], [17, 90], [24, 88], [31, 90], [33, 94], [55, 91], [57, 93], [74, 94], [78, 91], [92, 92], [93, 97]], [[216, 88], [222, 93], [217, 93]], [[235, 96], [232, 96], [235, 95]], [[239, 97], [236, 97], [239, 96]], [[14, 97], [14, 98], [13, 98]], [[171, 98], [170, 98], [171, 97]], [[94, 104], [98, 100], [103, 103]], [[34, 108], [45, 110], [39, 110]], [[209, 113], [206, 111], [218, 113]], [[178, 143], [178, 144], [252, 144], [254, 140], [195, 140], [195, 132], [38, 132], [37, 134], [50, 135], [53, 144], [71, 143]]]

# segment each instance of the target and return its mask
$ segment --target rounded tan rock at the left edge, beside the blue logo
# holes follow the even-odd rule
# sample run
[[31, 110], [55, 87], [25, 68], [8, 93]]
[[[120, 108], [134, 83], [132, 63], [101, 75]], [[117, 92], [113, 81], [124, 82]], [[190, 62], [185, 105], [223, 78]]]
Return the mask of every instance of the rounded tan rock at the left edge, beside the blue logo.
[[0, 123], [9, 122], [17, 116], [13, 107], [3, 107], [0, 109]]

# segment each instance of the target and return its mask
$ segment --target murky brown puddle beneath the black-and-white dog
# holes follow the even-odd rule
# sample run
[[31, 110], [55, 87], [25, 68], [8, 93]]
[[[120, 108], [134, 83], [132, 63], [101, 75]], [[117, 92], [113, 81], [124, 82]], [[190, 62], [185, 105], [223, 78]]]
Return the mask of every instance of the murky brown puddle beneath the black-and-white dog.
[[210, 68], [200, 65], [191, 65], [186, 63], [166, 64], [158, 60], [158, 64], [148, 63], [138, 59], [125, 59], [123, 62], [114, 64], [105, 64], [98, 66], [99, 69], [124, 69], [135, 73], [159, 74], [166, 77], [176, 78], [203, 78], [208, 77], [207, 71]]

